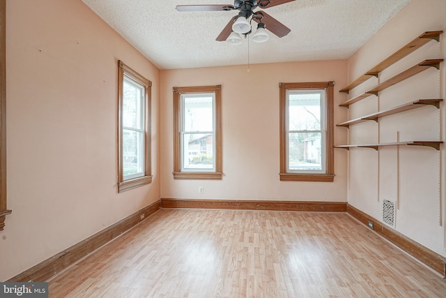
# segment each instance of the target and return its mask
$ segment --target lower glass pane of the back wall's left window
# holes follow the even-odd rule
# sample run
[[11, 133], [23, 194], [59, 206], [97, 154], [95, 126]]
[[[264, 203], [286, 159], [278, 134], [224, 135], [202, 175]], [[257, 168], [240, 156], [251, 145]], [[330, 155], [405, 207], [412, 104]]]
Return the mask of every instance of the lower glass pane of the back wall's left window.
[[183, 170], [212, 170], [213, 147], [212, 133], [184, 133]]

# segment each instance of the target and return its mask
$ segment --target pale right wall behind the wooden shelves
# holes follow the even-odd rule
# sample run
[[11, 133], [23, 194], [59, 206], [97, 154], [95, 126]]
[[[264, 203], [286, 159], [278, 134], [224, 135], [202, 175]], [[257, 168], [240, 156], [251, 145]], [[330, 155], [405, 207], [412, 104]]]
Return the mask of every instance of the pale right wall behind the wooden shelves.
[[[424, 31], [446, 31], [446, 1], [412, 0], [360, 50], [348, 59], [349, 81], [387, 58]], [[446, 57], [446, 33], [440, 43], [430, 41], [380, 74], [353, 89], [352, 96], [401, 73], [424, 59]], [[446, 66], [430, 68], [351, 105], [350, 119], [423, 98], [446, 99]], [[445, 140], [445, 104], [440, 110], [422, 107], [410, 112], [351, 126], [350, 142]], [[397, 204], [391, 228], [431, 250], [445, 251], [445, 147], [383, 147], [349, 152], [348, 203], [374, 218], [383, 219], [383, 200]]]

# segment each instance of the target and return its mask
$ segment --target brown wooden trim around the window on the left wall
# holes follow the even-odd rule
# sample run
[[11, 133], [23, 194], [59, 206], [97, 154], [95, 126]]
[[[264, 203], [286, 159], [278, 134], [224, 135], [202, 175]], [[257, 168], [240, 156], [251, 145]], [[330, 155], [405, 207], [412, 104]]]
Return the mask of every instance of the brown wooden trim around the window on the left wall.
[[[145, 105], [144, 105], [144, 176], [124, 181], [123, 174], [123, 83], [124, 76], [138, 82], [144, 87]], [[151, 184], [151, 131], [150, 131], [150, 106], [151, 106], [151, 87], [152, 82], [134, 71], [123, 61], [118, 61], [118, 193], [129, 191], [146, 184]]]

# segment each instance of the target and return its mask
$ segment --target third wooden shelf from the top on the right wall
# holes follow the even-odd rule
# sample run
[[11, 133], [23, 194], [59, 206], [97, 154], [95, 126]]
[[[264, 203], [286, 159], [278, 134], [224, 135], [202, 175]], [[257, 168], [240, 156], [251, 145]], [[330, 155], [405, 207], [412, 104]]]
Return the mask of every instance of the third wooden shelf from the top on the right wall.
[[441, 98], [419, 99], [419, 100], [412, 101], [410, 103], [405, 103], [403, 105], [399, 105], [397, 107], [392, 107], [388, 110], [383, 110], [383, 111], [376, 112], [374, 114], [369, 114], [369, 115], [366, 115], [366, 116], [363, 116], [360, 118], [351, 119], [351, 120], [343, 122], [341, 124], [337, 124], [336, 126], [349, 128], [353, 124], [358, 124], [358, 123], [369, 121], [369, 120], [378, 121], [378, 118], [389, 116], [392, 114], [401, 113], [401, 112], [406, 112], [408, 110], [416, 109], [417, 107], [423, 107], [424, 105], [433, 105], [434, 107], [437, 107], [437, 109], [439, 109], [441, 101], [443, 101], [443, 99], [441, 99]]

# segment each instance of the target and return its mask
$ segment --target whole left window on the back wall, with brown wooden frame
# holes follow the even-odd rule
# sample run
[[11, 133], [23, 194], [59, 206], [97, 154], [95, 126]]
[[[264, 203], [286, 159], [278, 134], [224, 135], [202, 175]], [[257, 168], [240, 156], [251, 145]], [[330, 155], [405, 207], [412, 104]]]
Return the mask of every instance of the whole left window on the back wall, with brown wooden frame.
[[222, 87], [174, 87], [174, 179], [222, 179]]

